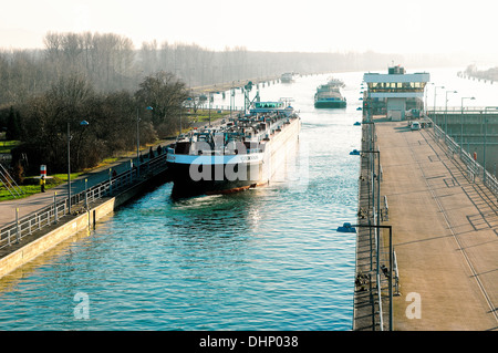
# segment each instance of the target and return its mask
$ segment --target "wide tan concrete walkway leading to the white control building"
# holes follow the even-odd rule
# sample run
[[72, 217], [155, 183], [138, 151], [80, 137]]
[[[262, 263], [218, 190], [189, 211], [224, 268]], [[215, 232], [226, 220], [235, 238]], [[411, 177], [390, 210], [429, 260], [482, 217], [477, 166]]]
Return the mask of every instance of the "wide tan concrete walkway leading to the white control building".
[[467, 178], [432, 129], [412, 132], [406, 122], [375, 127], [381, 195], [390, 206], [383, 224], [393, 227], [400, 269], [394, 330], [498, 330], [496, 197]]

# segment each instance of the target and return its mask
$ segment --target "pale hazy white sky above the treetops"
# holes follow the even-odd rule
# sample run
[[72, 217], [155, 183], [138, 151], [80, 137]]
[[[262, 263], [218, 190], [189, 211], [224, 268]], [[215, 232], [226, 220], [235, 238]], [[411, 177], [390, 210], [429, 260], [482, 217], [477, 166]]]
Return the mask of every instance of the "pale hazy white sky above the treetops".
[[[496, 53], [495, 0], [2, 0], [0, 48], [113, 32], [224, 50]], [[6, 3], [7, 2], [7, 3]]]

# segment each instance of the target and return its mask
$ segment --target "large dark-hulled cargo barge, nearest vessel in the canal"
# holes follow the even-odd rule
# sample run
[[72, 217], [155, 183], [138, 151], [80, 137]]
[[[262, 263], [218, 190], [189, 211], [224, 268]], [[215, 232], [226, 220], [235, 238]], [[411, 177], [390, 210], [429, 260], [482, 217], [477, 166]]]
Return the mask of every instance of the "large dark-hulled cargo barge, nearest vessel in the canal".
[[253, 102], [249, 114], [194, 129], [168, 146], [174, 198], [229, 194], [267, 185], [297, 142], [301, 120], [287, 102]]

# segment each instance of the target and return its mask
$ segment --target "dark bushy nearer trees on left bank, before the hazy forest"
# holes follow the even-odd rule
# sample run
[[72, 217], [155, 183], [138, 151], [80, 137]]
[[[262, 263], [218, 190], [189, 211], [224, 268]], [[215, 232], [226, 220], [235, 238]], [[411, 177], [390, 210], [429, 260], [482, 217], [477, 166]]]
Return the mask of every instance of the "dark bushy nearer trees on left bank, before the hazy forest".
[[8, 122], [17, 126], [9, 137], [23, 142], [12, 150], [15, 174], [35, 174], [42, 164], [51, 174], [64, 173], [69, 141], [72, 170], [94, 167], [117, 152], [134, 150], [137, 124], [141, 144], [172, 136], [187, 97], [185, 84], [166, 72], [146, 76], [135, 92], [98, 92], [79, 73], [61, 76], [8, 110]]

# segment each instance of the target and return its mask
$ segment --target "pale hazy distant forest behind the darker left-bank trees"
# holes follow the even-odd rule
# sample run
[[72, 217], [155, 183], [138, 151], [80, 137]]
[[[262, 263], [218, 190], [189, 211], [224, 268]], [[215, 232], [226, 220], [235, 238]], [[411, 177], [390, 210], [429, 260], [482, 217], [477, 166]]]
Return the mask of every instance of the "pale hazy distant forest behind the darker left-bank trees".
[[252, 77], [385, 68], [400, 55], [366, 53], [212, 51], [197, 44], [144, 42], [114, 33], [49, 32], [41, 50], [0, 50], [0, 104], [44, 92], [68, 74], [81, 74], [97, 91], [135, 90], [143, 77], [170, 72], [189, 87]]

